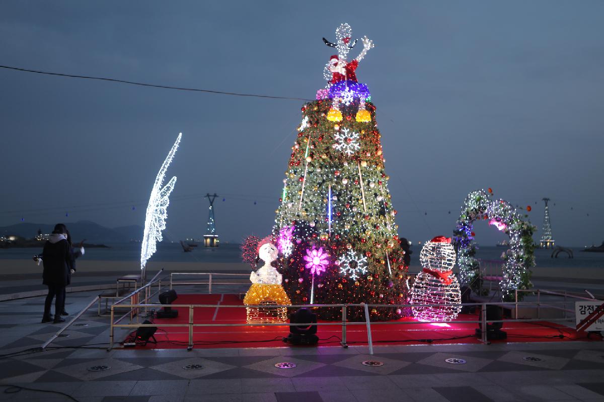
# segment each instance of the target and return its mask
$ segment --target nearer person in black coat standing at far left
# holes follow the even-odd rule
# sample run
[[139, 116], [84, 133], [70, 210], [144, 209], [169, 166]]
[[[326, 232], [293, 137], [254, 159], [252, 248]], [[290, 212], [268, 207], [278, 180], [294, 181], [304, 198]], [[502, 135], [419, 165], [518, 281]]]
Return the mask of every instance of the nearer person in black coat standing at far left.
[[69, 284], [71, 279], [71, 269], [74, 261], [71, 244], [69, 244], [67, 238], [68, 231], [65, 225], [57, 224], [42, 251], [42, 263], [44, 265], [42, 283], [48, 286], [42, 322], [53, 321], [50, 313], [53, 298], [56, 299], [54, 322], [65, 321], [61, 317], [61, 313], [65, 310], [65, 286]]

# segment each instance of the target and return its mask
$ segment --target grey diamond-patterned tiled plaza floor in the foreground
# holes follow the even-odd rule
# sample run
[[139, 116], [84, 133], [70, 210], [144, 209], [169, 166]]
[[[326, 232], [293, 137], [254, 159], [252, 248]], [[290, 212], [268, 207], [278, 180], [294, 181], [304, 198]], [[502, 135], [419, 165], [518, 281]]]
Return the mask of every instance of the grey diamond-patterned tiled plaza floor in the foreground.
[[[98, 292], [68, 294], [77, 312]], [[40, 324], [43, 298], [0, 303], [0, 354], [39, 347], [59, 329]], [[604, 401], [604, 342], [492, 345], [137, 350], [106, 344], [95, 309], [47, 351], [0, 359], [0, 400], [68, 401]], [[97, 345], [103, 347], [104, 345]], [[65, 348], [63, 348], [65, 347]], [[528, 359], [527, 359], [528, 357]], [[445, 362], [464, 360], [463, 364]], [[381, 366], [366, 366], [374, 360]], [[295, 363], [279, 369], [275, 363]], [[184, 369], [201, 365], [201, 369]], [[107, 366], [104, 371], [92, 367]]]

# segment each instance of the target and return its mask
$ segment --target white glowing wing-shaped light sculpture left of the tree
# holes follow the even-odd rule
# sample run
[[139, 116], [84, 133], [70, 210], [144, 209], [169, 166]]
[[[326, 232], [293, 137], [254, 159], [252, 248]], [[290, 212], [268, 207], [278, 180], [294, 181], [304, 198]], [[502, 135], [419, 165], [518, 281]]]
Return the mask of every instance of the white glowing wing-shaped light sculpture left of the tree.
[[143, 232], [143, 245], [141, 246], [141, 277], [145, 278], [145, 268], [147, 260], [151, 258], [153, 253], [157, 250], [156, 243], [161, 242], [163, 237], [161, 236], [162, 230], [165, 229], [165, 219], [168, 216], [168, 205], [170, 204], [170, 193], [174, 189], [176, 184], [176, 176], [172, 177], [170, 181], [162, 188], [161, 185], [164, 182], [165, 171], [168, 170], [170, 162], [174, 159], [176, 149], [181, 143], [182, 133], [178, 134], [178, 138], [172, 149], [162, 163], [161, 168], [155, 178], [155, 184], [151, 190], [151, 196], [149, 198], [149, 205], [147, 206], [147, 215], [145, 218], [145, 230]]

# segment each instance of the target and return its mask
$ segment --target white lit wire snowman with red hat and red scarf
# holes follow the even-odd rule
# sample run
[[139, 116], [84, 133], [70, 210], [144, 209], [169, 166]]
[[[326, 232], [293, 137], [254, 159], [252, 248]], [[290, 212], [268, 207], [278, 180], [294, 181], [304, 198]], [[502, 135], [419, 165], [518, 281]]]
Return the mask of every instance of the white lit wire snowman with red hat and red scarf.
[[461, 310], [461, 293], [453, 274], [455, 250], [451, 237], [437, 236], [423, 245], [419, 256], [422, 272], [411, 289], [411, 304], [457, 304], [458, 306], [413, 307], [419, 321], [451, 321]]

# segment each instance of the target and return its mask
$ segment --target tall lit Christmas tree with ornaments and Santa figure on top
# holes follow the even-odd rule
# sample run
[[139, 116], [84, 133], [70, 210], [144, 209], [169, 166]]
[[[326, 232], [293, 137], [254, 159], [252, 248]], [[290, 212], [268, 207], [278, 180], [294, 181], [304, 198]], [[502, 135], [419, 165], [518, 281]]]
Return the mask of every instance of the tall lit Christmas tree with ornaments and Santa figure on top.
[[[278, 268], [292, 304], [380, 304], [370, 307], [371, 319], [396, 319], [401, 310], [386, 306], [406, 303], [408, 267], [376, 107], [356, 79], [373, 43], [364, 37], [360, 54], [348, 61], [358, 42], [348, 24], [336, 30], [336, 43], [323, 40], [338, 54], [326, 65], [327, 86], [302, 107], [273, 229], [283, 255]], [[341, 319], [339, 308], [317, 313]], [[349, 309], [348, 318], [364, 319], [364, 309]]]

